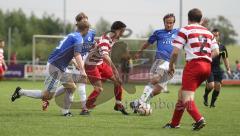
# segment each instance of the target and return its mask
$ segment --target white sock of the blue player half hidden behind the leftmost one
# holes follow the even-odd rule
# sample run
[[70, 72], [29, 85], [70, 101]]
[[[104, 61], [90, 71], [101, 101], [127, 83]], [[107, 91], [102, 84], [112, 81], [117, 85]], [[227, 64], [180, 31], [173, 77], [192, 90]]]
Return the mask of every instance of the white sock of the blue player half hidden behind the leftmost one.
[[78, 84], [77, 91], [79, 93], [82, 109], [86, 109], [86, 101], [87, 101], [86, 85], [82, 83]]

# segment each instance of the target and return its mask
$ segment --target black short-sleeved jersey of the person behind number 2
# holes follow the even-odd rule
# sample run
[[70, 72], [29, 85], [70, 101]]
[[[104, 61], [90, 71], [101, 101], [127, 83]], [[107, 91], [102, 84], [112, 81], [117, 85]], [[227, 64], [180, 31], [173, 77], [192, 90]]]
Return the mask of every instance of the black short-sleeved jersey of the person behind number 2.
[[214, 57], [212, 60], [212, 71], [220, 71], [220, 61], [221, 58], [228, 58], [228, 52], [224, 45], [219, 44], [219, 55]]

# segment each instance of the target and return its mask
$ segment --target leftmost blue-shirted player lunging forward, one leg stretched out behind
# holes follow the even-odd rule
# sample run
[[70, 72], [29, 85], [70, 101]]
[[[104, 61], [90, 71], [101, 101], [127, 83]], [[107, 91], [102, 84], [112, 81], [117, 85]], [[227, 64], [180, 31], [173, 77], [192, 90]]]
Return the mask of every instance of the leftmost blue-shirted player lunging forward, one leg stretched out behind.
[[86, 73], [84, 70], [84, 64], [81, 56], [83, 38], [86, 35], [90, 24], [88, 21], [77, 22], [77, 31], [68, 34], [62, 41], [60, 41], [59, 46], [50, 54], [47, 64], [48, 75], [45, 79], [45, 91], [41, 90], [26, 90], [17, 87], [12, 95], [11, 100], [14, 102], [17, 98], [21, 96], [32, 97], [36, 99], [50, 100], [59, 83], [63, 84], [61, 90], [66, 91], [65, 102], [63, 105], [63, 115], [72, 116], [69, 112], [69, 107], [71, 105], [71, 99], [73, 91], [76, 89], [76, 84], [72, 79], [72, 74], [66, 72], [66, 68], [73, 58], [76, 60], [77, 69], [79, 70], [81, 76], [86, 78]]

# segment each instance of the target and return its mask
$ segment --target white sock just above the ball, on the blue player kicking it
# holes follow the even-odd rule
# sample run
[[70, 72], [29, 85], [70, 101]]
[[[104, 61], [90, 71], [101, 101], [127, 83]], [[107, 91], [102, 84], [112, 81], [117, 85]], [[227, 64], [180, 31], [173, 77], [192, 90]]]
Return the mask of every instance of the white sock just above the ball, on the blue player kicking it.
[[152, 85], [146, 85], [139, 101], [148, 103], [150, 101], [150, 99], [152, 98], [152, 91], [153, 91]]

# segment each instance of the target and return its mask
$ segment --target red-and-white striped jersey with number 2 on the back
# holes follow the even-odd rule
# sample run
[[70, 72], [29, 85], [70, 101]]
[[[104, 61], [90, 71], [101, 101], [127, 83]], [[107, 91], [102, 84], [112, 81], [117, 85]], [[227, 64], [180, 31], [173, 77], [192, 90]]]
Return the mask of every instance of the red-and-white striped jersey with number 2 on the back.
[[218, 48], [213, 34], [199, 24], [187, 25], [180, 29], [173, 46], [186, 52], [186, 60], [206, 58], [212, 61], [211, 52]]

